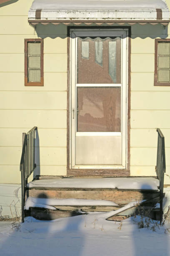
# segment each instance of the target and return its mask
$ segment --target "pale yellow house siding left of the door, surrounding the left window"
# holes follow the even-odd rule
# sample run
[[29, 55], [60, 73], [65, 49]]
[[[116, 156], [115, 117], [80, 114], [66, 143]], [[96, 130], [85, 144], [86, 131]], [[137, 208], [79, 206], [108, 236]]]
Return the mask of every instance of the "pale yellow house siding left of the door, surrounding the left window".
[[[28, 24], [32, 0], [0, 8], [0, 182], [20, 183], [22, 133], [38, 127], [35, 174], [65, 175], [67, 27]], [[24, 86], [24, 39], [44, 38], [44, 86]], [[38, 146], [38, 147], [37, 147]], [[39, 165], [40, 164], [40, 165]]]

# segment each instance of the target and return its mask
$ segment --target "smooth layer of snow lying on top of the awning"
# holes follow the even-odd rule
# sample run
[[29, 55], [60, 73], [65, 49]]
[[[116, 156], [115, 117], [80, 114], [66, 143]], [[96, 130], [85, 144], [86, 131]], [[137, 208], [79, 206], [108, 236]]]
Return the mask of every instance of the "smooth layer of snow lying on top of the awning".
[[31, 10], [149, 10], [165, 9], [163, 0], [34, 0]]

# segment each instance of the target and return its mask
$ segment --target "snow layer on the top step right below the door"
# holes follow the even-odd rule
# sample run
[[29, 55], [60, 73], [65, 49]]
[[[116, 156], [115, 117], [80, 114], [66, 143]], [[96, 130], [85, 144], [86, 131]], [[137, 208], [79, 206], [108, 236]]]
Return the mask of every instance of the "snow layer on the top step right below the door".
[[152, 189], [158, 190], [159, 180], [146, 178], [63, 178], [40, 179], [27, 184], [27, 187], [84, 188], [84, 189]]

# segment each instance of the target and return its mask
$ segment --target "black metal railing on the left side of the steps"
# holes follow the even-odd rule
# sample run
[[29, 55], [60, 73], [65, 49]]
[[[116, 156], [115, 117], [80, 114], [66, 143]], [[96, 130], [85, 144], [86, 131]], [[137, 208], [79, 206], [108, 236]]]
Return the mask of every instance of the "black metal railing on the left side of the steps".
[[23, 133], [23, 150], [20, 161], [20, 172], [21, 172], [21, 211], [22, 221], [24, 222], [24, 205], [25, 205], [25, 194], [28, 183], [28, 177], [34, 171], [35, 164], [35, 131], [37, 127], [33, 127], [28, 133]]

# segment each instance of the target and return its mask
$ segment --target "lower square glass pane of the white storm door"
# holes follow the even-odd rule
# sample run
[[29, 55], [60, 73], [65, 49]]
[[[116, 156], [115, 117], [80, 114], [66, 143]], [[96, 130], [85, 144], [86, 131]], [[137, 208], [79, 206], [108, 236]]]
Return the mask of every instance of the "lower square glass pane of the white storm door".
[[77, 87], [77, 131], [121, 132], [121, 88]]

